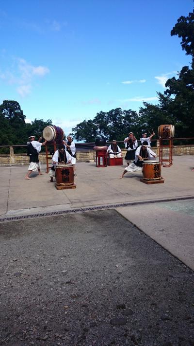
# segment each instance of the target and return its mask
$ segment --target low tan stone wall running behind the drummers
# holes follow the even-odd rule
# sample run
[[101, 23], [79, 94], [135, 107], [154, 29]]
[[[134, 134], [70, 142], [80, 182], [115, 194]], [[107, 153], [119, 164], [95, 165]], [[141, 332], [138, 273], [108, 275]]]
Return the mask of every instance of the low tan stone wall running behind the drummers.
[[[152, 150], [159, 156], [159, 146], [152, 147]], [[125, 157], [126, 150], [122, 149], [123, 157]], [[194, 155], [194, 145], [174, 146], [173, 156], [178, 155]], [[76, 153], [77, 162], [88, 162], [96, 160], [96, 152], [94, 150], [81, 151]], [[163, 148], [163, 157], [169, 156], [169, 148]], [[40, 153], [39, 160], [42, 164], [46, 164], [46, 154]], [[51, 162], [51, 157], [50, 157]], [[0, 166], [21, 166], [29, 164], [29, 156], [27, 154], [14, 154], [14, 149], [10, 146], [10, 154], [0, 154]]]

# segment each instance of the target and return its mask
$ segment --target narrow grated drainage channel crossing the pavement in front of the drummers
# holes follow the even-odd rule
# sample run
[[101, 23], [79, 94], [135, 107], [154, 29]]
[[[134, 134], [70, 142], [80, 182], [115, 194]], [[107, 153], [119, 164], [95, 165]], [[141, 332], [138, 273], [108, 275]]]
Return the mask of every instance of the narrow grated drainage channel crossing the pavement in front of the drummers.
[[69, 209], [69, 210], [64, 210], [64, 211], [55, 211], [55, 212], [47, 212], [47, 213], [29, 214], [29, 215], [0, 218], [0, 222], [34, 219], [34, 218], [45, 218], [48, 216], [84, 213], [84, 212], [89, 212], [89, 211], [114, 209], [114, 208], [119, 208], [119, 207], [129, 207], [129, 206], [133, 206], [133, 205], [144, 205], [144, 204], [153, 204], [153, 203], [161, 203], [161, 202], [162, 203], [163, 202], [171, 202], [171, 201], [176, 201], [176, 200], [178, 201], [178, 200], [193, 200], [193, 199], [194, 199], [194, 196], [170, 198], [170, 199], [165, 199], [165, 200], [148, 200], [148, 201], [138, 201], [138, 202], [114, 203], [114, 204], [100, 205], [100, 206], [94, 206], [94, 207], [74, 208], [74, 209]]

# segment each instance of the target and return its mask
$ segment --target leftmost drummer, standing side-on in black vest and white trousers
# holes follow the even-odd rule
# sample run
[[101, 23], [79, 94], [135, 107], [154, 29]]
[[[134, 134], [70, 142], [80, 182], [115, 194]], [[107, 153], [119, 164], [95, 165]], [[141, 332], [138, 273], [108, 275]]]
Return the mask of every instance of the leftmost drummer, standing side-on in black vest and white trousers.
[[38, 154], [41, 151], [41, 146], [44, 146], [47, 141], [40, 143], [42, 137], [38, 141], [35, 141], [35, 136], [30, 136], [29, 142], [27, 142], [27, 155], [30, 156], [30, 165], [28, 167], [28, 173], [24, 179], [30, 180], [30, 175], [32, 172], [35, 172], [38, 169], [38, 174], [41, 175], [41, 164], [39, 162]]

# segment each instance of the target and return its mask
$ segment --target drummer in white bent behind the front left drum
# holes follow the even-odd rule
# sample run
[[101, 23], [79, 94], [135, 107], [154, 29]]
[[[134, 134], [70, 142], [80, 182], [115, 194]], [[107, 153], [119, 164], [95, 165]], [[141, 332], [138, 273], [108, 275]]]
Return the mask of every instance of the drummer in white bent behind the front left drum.
[[53, 182], [53, 177], [55, 176], [56, 164], [72, 164], [76, 163], [76, 159], [71, 156], [64, 148], [64, 145], [58, 146], [58, 150], [55, 151], [52, 157], [53, 166], [49, 170], [50, 182]]

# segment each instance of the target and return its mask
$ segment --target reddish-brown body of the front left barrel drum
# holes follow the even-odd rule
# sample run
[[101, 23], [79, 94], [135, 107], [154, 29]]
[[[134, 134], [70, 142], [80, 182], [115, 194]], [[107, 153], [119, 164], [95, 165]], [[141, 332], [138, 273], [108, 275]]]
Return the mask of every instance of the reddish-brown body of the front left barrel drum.
[[70, 186], [74, 184], [74, 170], [72, 164], [56, 164], [56, 185]]

